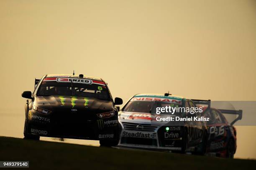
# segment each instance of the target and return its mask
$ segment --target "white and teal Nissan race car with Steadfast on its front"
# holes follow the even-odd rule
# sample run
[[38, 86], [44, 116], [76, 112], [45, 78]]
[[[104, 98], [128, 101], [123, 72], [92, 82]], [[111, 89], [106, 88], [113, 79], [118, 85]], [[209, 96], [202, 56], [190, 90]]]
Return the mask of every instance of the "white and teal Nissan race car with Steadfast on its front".
[[205, 121], [156, 121], [156, 117], [197, 117], [198, 113], [156, 114], [156, 107], [196, 107], [184, 97], [161, 94], [138, 94], [131, 97], [118, 114], [118, 146], [153, 150], [192, 151], [204, 155], [207, 147]]

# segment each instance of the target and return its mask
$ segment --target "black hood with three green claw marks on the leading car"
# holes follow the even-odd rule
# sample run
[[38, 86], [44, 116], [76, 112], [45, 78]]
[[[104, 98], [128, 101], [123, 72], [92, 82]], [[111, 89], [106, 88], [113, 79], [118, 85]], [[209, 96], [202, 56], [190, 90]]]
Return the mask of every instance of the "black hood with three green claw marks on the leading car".
[[56, 110], [82, 110], [86, 112], [87, 110], [102, 113], [114, 110], [111, 101], [75, 96], [37, 96], [33, 105], [51, 112]]

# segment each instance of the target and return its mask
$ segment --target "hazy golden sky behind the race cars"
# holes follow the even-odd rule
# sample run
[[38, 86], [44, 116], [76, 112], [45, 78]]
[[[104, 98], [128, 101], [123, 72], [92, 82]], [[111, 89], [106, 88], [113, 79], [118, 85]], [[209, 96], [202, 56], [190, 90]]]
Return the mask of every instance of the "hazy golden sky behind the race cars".
[[[123, 100], [256, 100], [256, 1], [0, 0], [0, 63], [0, 135], [22, 137], [35, 77], [73, 70]], [[236, 157], [256, 158], [255, 130], [238, 127]]]

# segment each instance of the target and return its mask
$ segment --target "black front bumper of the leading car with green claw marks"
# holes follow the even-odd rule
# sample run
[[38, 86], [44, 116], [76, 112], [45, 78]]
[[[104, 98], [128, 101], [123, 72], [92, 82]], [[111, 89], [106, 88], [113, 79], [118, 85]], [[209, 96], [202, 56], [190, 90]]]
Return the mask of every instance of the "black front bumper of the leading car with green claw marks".
[[26, 120], [26, 133], [53, 138], [86, 140], [117, 140], [117, 115], [98, 118], [96, 115], [45, 115], [30, 110]]

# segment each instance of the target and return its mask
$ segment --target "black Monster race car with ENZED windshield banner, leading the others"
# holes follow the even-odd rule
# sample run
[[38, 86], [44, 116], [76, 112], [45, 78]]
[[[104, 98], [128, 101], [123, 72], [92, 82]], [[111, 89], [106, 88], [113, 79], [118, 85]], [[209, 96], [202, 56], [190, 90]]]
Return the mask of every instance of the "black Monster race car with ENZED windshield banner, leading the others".
[[100, 145], [118, 144], [118, 110], [107, 84], [83, 75], [44, 75], [35, 80], [33, 93], [25, 91], [24, 138], [40, 136], [100, 140]]

